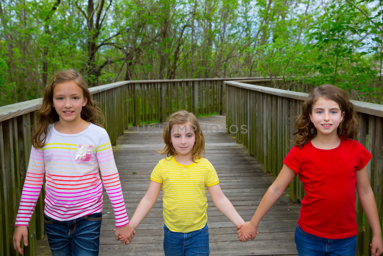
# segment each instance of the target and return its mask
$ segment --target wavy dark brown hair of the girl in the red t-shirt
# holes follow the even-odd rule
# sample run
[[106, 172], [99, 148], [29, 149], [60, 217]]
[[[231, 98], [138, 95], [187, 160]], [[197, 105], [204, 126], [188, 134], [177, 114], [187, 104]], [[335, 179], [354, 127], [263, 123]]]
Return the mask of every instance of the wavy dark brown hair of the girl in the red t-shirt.
[[316, 136], [317, 130], [311, 122], [309, 113], [311, 114], [313, 111], [313, 105], [319, 97], [335, 101], [339, 105], [340, 111], [345, 112], [343, 120], [337, 129], [338, 137], [340, 139], [354, 139], [359, 128], [359, 120], [354, 104], [350, 102], [345, 91], [331, 84], [324, 84], [314, 88], [306, 101], [303, 102], [302, 113], [295, 121], [295, 128], [298, 130], [294, 132], [294, 135], [297, 135], [294, 144], [302, 148], [302, 145]]

